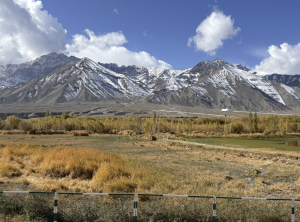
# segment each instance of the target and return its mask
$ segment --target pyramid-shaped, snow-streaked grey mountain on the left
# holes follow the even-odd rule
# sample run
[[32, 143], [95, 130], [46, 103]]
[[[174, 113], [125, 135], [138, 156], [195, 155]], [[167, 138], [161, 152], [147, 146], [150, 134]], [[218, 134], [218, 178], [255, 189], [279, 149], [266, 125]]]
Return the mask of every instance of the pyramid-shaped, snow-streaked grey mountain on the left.
[[88, 58], [65, 64], [46, 76], [0, 91], [2, 103], [37, 104], [129, 99], [150, 94], [134, 80]]

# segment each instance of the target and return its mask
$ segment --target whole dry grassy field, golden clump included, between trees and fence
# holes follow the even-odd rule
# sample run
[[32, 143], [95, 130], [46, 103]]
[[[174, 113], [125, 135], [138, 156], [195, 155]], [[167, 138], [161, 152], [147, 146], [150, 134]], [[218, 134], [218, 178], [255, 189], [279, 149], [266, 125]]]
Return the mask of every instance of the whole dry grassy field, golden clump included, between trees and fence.
[[[13, 158], [4, 158], [9, 153], [4, 152], [1, 161], [7, 161], [9, 170], [5, 172], [10, 173], [2, 174], [0, 180], [29, 184], [31, 190], [297, 198], [300, 189], [300, 154], [292, 151], [292, 147], [271, 152], [268, 147], [253, 149], [240, 143], [261, 144], [263, 139], [226, 138], [227, 144], [238, 141], [239, 148], [219, 149], [212, 144], [223, 138], [186, 138], [196, 141], [195, 144], [212, 141], [210, 148], [165, 139], [147, 141], [138, 136], [66, 134], [0, 138], [1, 152], [9, 147], [16, 150], [16, 141], [23, 144], [23, 148], [17, 148], [20, 154]], [[266, 139], [279, 143], [288, 137]], [[25, 145], [32, 146], [25, 149], [28, 142], [33, 145]]]

